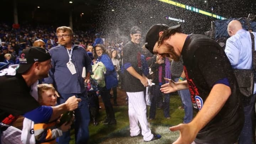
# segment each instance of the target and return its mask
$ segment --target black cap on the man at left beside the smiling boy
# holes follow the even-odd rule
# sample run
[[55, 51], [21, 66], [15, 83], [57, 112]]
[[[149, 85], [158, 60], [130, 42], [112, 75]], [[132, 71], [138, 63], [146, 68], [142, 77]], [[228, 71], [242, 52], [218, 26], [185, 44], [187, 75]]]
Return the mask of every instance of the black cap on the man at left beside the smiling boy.
[[26, 48], [20, 55], [20, 66], [17, 69], [17, 73], [25, 73], [34, 62], [44, 62], [50, 59], [51, 56], [46, 49], [41, 47]]

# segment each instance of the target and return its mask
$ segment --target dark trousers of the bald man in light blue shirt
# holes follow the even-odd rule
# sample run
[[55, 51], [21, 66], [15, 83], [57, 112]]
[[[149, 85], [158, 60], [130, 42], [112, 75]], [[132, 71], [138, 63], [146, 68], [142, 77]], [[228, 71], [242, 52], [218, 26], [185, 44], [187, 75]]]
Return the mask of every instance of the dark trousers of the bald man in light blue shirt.
[[255, 143], [255, 97], [242, 97], [244, 103], [245, 122], [239, 135], [239, 144]]

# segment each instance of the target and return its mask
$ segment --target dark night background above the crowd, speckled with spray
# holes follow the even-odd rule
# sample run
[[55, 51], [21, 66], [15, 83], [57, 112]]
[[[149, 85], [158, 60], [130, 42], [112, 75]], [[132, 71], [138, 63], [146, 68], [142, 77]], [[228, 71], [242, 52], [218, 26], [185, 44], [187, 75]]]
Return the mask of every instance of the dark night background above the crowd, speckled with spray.
[[[226, 18], [256, 14], [256, 0], [174, 1], [208, 12], [213, 7], [214, 14]], [[169, 26], [181, 24], [185, 33], [203, 34], [210, 30], [211, 21], [217, 20], [158, 0], [73, 0], [73, 4], [69, 4], [69, 0], [17, 0], [17, 9], [21, 26], [25, 23], [34, 26], [68, 26], [69, 14], [72, 11], [73, 27], [81, 30], [93, 28], [98, 32], [119, 37], [127, 36], [132, 26], [139, 26], [146, 32], [156, 23]], [[166, 16], [180, 18], [185, 22], [166, 20]], [[0, 22], [12, 24], [13, 19], [13, 1], [2, 0]]]

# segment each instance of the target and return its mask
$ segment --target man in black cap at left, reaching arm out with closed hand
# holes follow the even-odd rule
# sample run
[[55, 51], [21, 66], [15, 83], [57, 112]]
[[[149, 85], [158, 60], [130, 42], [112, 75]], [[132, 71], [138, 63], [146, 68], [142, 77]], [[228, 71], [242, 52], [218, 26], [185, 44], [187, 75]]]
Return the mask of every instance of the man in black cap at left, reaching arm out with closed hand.
[[0, 76], [0, 136], [20, 115], [35, 123], [47, 123], [78, 107], [81, 99], [75, 96], [55, 107], [40, 106], [36, 97], [31, 96], [31, 86], [38, 79], [48, 77], [50, 58], [50, 54], [43, 48], [27, 48], [20, 55], [16, 75]]

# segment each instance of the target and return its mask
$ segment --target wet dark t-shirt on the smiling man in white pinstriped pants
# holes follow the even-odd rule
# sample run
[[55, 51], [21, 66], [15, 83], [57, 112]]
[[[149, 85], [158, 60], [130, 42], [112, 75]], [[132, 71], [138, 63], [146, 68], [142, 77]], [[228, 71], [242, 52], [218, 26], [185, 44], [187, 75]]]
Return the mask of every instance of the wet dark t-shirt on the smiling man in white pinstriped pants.
[[[129, 41], [123, 48], [123, 64], [129, 64], [132, 66], [138, 74], [142, 75], [142, 68], [138, 65], [138, 53], [140, 53], [141, 48], [138, 44]], [[126, 92], [140, 92], [144, 91], [144, 86], [139, 79], [132, 76], [126, 68], [124, 69], [124, 90]]]

